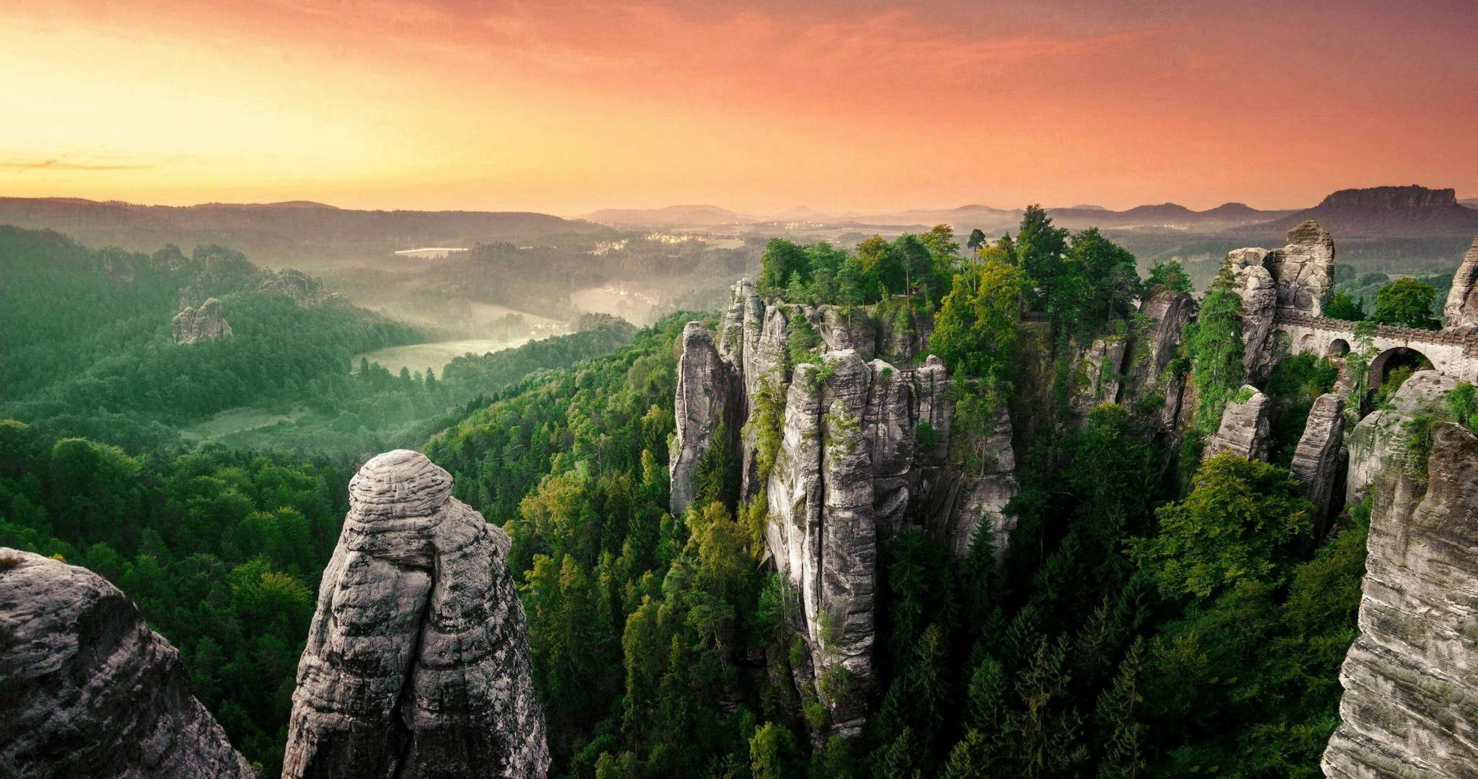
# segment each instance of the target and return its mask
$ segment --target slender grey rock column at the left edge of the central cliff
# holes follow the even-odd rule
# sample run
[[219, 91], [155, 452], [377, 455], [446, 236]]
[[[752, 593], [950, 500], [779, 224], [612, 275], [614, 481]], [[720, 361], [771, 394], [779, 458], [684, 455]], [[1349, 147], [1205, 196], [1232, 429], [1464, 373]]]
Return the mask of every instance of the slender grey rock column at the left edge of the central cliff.
[[698, 466], [718, 442], [732, 433], [724, 424], [736, 411], [732, 370], [718, 356], [702, 322], [683, 328], [683, 353], [677, 361], [677, 439], [668, 452], [672, 480], [672, 513], [686, 511], [698, 491]]

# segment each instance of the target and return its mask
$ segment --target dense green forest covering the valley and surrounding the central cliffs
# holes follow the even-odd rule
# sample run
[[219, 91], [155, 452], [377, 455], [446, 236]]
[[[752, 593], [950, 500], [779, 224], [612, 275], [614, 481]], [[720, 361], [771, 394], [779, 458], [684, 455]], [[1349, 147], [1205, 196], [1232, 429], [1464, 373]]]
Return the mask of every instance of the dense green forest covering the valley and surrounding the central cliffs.
[[[964, 560], [918, 529], [884, 545], [869, 732], [813, 742], [814, 698], [791, 674], [795, 596], [761, 563], [766, 519], [735, 503], [721, 463], [705, 501], [668, 511], [677, 339], [704, 315], [393, 375], [349, 355], [414, 333], [247, 291], [232, 273], [250, 266], [225, 250], [182, 265], [50, 234], [0, 239], [0, 257], [56, 260], [4, 260], [3, 414], [22, 421], [0, 426], [0, 544], [61, 554], [137, 600], [269, 776], [344, 486], [392, 427], [424, 433], [457, 495], [513, 538], [556, 776], [1318, 776], [1369, 507], [1315, 535], [1286, 470], [1289, 436], [1333, 381], [1324, 361], [1270, 381], [1273, 463], [1199, 460], [1197, 436], [1242, 384], [1225, 278], [1174, 364], [1200, 392], [1178, 446], [1153, 402], [1069, 426], [1058, 392], [1083, 343], [1137, 327], [1134, 300], [1188, 290], [1174, 263], [1141, 279], [1131, 253], [1039, 208], [974, 250], [947, 228], [854, 250], [770, 244], [766, 294], [931, 316], [962, 408], [1008, 402], [1058, 433], [1018, 442], [999, 569], [986, 534]], [[189, 284], [222, 299], [234, 339], [176, 347], [168, 316]], [[1023, 309], [1048, 334], [1039, 359], [1017, 358]], [[299, 344], [310, 337], [330, 346]], [[792, 346], [814, 349], [804, 333]], [[344, 436], [340, 454], [174, 445], [182, 421], [232, 404], [302, 404]]]

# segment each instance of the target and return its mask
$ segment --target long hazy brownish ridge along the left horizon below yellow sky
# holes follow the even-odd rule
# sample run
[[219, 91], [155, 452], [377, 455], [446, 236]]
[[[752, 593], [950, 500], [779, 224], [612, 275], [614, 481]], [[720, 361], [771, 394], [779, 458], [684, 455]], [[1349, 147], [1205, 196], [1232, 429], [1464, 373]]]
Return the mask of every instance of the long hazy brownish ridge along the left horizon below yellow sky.
[[359, 211], [322, 203], [137, 205], [78, 198], [0, 198], [0, 225], [53, 229], [89, 245], [238, 248], [262, 265], [334, 263], [421, 245], [548, 242], [607, 228], [522, 211]]

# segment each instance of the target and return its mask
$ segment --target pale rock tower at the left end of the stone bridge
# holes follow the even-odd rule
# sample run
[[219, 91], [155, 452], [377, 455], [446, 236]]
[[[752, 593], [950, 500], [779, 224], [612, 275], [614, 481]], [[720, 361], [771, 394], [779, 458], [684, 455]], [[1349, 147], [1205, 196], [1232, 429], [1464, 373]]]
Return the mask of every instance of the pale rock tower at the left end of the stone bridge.
[[1237, 248], [1227, 262], [1242, 296], [1242, 362], [1247, 381], [1261, 384], [1281, 355], [1277, 349], [1277, 312], [1323, 316], [1324, 300], [1335, 288], [1335, 239], [1317, 222], [1289, 231], [1281, 248]]

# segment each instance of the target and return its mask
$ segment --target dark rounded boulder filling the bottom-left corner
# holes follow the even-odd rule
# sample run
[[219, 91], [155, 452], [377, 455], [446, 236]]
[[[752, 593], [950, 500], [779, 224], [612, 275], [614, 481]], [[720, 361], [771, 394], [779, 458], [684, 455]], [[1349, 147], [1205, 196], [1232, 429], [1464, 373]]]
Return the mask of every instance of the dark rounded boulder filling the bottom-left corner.
[[22, 778], [254, 778], [132, 600], [87, 569], [10, 548], [0, 548], [4, 766]]

